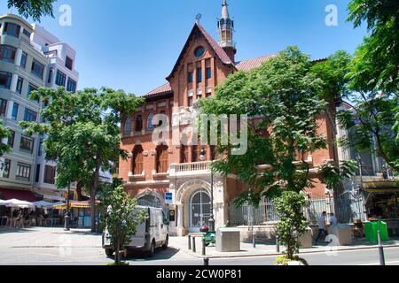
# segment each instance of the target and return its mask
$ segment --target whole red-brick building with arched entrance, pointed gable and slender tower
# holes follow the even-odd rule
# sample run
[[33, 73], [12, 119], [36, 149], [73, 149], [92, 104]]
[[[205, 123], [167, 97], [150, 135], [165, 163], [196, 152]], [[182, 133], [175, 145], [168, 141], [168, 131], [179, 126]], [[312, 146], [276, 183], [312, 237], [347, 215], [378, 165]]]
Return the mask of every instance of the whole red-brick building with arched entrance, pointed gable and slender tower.
[[[126, 182], [129, 195], [142, 203], [168, 206], [176, 211], [176, 219], [170, 224], [171, 233], [184, 235], [197, 231], [207, 224], [210, 216], [210, 160], [215, 157], [209, 147], [168, 145], [153, 143], [153, 116], [166, 114], [170, 126], [181, 127], [184, 115], [195, 111], [193, 105], [200, 98], [215, 94], [215, 87], [226, 77], [239, 70], [249, 71], [262, 65], [272, 55], [255, 57], [236, 62], [233, 42], [234, 21], [223, 1], [222, 18], [218, 20], [219, 42], [197, 22], [192, 27], [184, 48], [168, 75], [168, 82], [146, 94], [145, 105], [137, 110], [121, 126], [121, 148], [129, 151], [129, 159], [121, 160], [120, 177]], [[333, 109], [333, 108], [332, 108]], [[330, 141], [335, 138], [332, 115], [325, 113], [319, 118], [319, 131]], [[180, 126], [179, 126], [180, 125]], [[172, 139], [172, 134], [169, 137]], [[207, 161], [200, 160], [201, 149], [207, 151]], [[325, 160], [336, 160], [334, 146], [318, 150], [308, 157], [314, 166]], [[313, 198], [325, 198], [325, 186], [319, 184], [309, 194]], [[214, 176], [215, 226], [229, 222], [231, 202], [246, 187], [235, 176]], [[165, 197], [172, 198], [166, 201]], [[171, 195], [169, 195], [171, 194]]]

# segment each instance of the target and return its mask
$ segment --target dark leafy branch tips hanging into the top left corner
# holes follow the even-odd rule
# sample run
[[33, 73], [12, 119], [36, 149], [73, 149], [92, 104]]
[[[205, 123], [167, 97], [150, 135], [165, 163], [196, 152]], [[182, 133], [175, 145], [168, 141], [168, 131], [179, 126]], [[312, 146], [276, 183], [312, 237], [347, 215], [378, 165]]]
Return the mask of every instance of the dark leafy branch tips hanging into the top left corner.
[[53, 15], [53, 4], [57, 0], [7, 0], [8, 8], [15, 7], [21, 16], [25, 18], [32, 17], [32, 19], [40, 22], [43, 16]]

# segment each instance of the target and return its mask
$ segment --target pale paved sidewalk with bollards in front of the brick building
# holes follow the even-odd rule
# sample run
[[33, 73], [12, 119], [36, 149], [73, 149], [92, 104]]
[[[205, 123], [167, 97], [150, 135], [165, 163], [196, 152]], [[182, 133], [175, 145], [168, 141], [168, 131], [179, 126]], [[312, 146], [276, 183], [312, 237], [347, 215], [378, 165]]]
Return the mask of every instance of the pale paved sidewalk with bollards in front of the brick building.
[[[384, 247], [399, 247], [399, 238], [395, 238], [392, 241], [386, 241], [383, 243]], [[187, 255], [195, 257], [209, 257], [209, 258], [222, 258], [222, 257], [246, 257], [246, 256], [276, 256], [280, 255], [276, 250], [276, 245], [269, 243], [256, 244], [256, 248], [253, 247], [252, 242], [241, 242], [241, 251], [222, 253], [216, 251], [215, 247], [207, 247], [206, 256], [202, 256], [202, 242], [200, 238], [196, 239], [196, 253], [188, 249], [187, 237], [173, 237], [169, 240], [169, 246], [184, 251]], [[356, 240], [352, 245], [349, 246], [331, 246], [327, 243], [320, 244], [311, 249], [301, 249], [301, 254], [307, 253], [323, 253], [323, 252], [334, 252], [343, 250], [354, 250], [354, 249], [377, 249], [378, 245], [375, 242], [367, 242], [364, 240]], [[280, 252], [283, 252], [284, 247], [280, 247]]]

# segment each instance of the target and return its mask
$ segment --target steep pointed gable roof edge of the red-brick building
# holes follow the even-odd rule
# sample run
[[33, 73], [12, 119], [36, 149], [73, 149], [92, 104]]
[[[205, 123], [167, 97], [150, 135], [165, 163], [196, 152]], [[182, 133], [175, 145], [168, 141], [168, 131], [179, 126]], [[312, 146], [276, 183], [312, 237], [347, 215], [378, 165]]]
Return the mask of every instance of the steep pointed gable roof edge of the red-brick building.
[[194, 27], [192, 27], [192, 32], [190, 33], [187, 42], [185, 42], [184, 44], [184, 48], [180, 53], [180, 56], [177, 58], [176, 64], [173, 67], [172, 72], [167, 77], [167, 80], [170, 80], [174, 76], [174, 74], [177, 71], [178, 65], [184, 59], [184, 54], [186, 53], [187, 50], [190, 49], [190, 46], [192, 45], [192, 39], [199, 35], [202, 35], [206, 39], [211, 49], [215, 52], [216, 57], [219, 58], [219, 60], [224, 65], [230, 65], [231, 67], [234, 68], [235, 71], [237, 70], [234, 62], [231, 61], [231, 58], [226, 54], [223, 48], [217, 42], [215, 42], [215, 40], [212, 38], [210, 34], [207, 33], [204, 27], [202, 27], [199, 23], [195, 23]]

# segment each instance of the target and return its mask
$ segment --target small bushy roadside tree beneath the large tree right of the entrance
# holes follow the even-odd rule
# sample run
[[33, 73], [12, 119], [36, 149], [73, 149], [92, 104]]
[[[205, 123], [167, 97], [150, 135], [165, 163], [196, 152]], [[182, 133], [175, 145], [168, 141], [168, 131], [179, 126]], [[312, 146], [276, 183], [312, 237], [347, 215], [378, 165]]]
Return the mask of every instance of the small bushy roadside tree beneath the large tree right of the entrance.
[[299, 237], [308, 231], [308, 222], [303, 215], [306, 196], [303, 192], [286, 191], [274, 203], [280, 216], [277, 224], [278, 241], [286, 246], [286, 257], [294, 260], [294, 254], [298, 254], [301, 248]]

